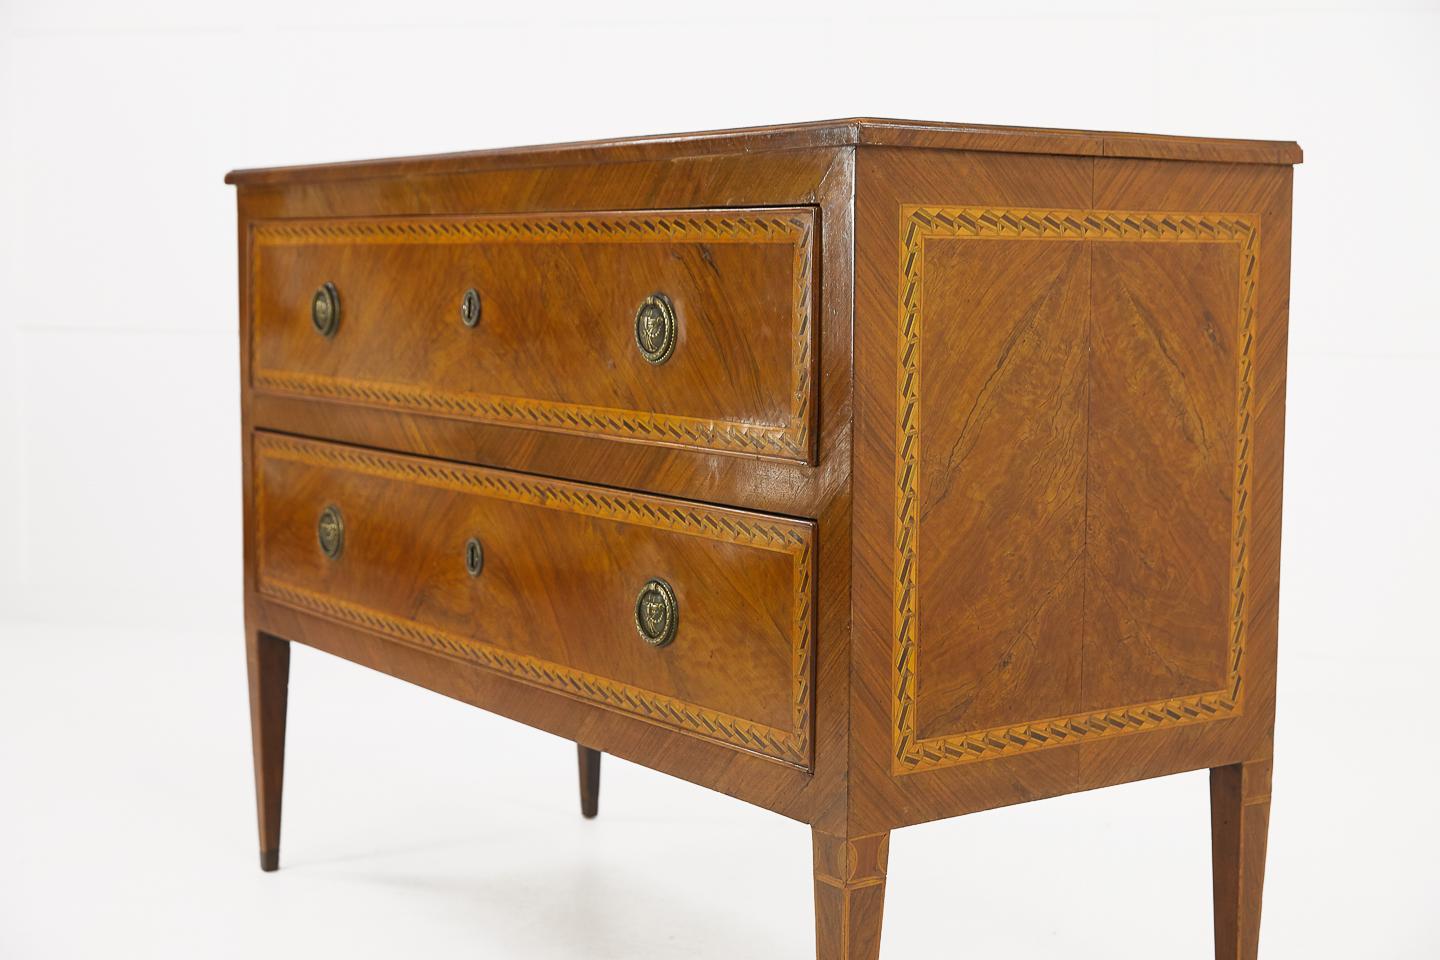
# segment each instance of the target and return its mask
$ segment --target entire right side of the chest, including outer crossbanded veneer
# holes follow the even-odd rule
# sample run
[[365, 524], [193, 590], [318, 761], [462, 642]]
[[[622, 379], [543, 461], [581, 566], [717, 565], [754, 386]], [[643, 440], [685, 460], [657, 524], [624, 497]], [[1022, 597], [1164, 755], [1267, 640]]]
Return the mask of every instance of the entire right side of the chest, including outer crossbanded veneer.
[[1269, 751], [1289, 183], [861, 151], [852, 829]]

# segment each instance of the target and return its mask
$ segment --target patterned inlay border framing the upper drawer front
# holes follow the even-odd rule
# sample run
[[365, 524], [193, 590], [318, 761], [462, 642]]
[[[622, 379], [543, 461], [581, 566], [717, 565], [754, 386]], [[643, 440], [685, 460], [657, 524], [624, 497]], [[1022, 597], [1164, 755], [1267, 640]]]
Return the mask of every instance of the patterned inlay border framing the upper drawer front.
[[419, 413], [469, 417], [567, 433], [697, 446], [809, 462], [814, 379], [814, 232], [809, 210], [773, 213], [671, 212], [657, 214], [488, 216], [372, 220], [268, 220], [253, 226], [262, 246], [328, 243], [789, 243], [793, 249], [791, 322], [791, 410], [786, 423], [762, 425], [619, 410], [577, 403], [433, 390], [415, 384], [351, 380], [285, 370], [252, 374], [256, 389]]

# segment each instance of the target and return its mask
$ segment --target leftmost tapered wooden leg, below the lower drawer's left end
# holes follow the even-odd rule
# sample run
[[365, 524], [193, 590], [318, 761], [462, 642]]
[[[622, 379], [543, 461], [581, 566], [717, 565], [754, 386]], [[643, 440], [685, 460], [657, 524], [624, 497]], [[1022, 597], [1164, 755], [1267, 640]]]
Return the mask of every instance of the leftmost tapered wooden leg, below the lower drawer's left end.
[[285, 702], [289, 695], [289, 640], [251, 632], [251, 743], [255, 750], [255, 805], [261, 828], [261, 869], [279, 866], [279, 799], [285, 779]]

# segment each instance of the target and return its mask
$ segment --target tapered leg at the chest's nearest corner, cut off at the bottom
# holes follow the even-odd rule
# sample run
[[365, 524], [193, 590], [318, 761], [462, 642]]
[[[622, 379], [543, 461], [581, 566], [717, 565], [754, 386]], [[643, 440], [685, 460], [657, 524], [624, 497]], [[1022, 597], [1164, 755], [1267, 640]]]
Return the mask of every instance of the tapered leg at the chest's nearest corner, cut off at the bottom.
[[876, 960], [890, 833], [844, 838], [812, 830], [812, 842], [816, 960]]

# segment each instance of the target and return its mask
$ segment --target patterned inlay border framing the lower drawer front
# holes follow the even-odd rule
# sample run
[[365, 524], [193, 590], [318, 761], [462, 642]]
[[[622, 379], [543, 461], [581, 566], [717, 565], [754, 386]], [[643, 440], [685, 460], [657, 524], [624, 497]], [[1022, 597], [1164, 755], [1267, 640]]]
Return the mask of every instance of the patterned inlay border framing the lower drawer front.
[[[311, 466], [344, 469], [436, 486], [469, 495], [562, 510], [585, 517], [638, 524], [657, 530], [743, 544], [759, 550], [789, 554], [793, 571], [792, 617], [792, 728], [780, 730], [752, 720], [632, 687], [621, 681], [586, 674], [563, 664], [514, 653], [490, 643], [458, 636], [439, 628], [372, 610], [301, 587], [269, 579], [264, 554], [259, 556], [259, 590], [266, 597], [350, 626], [359, 626], [387, 639], [428, 652], [475, 664], [528, 684], [562, 692], [576, 699], [600, 704], [622, 712], [719, 740], [733, 747], [811, 769], [811, 699], [814, 655], [814, 548], [812, 537], [801, 524], [736, 515], [716, 508], [621, 494], [603, 488], [547, 481], [517, 474], [419, 461], [370, 450], [333, 446], [281, 436], [255, 439], [256, 465], [265, 459], [291, 461]], [[264, 484], [256, 484], [256, 512], [264, 521]], [[261, 538], [261, 544], [264, 538]]]

